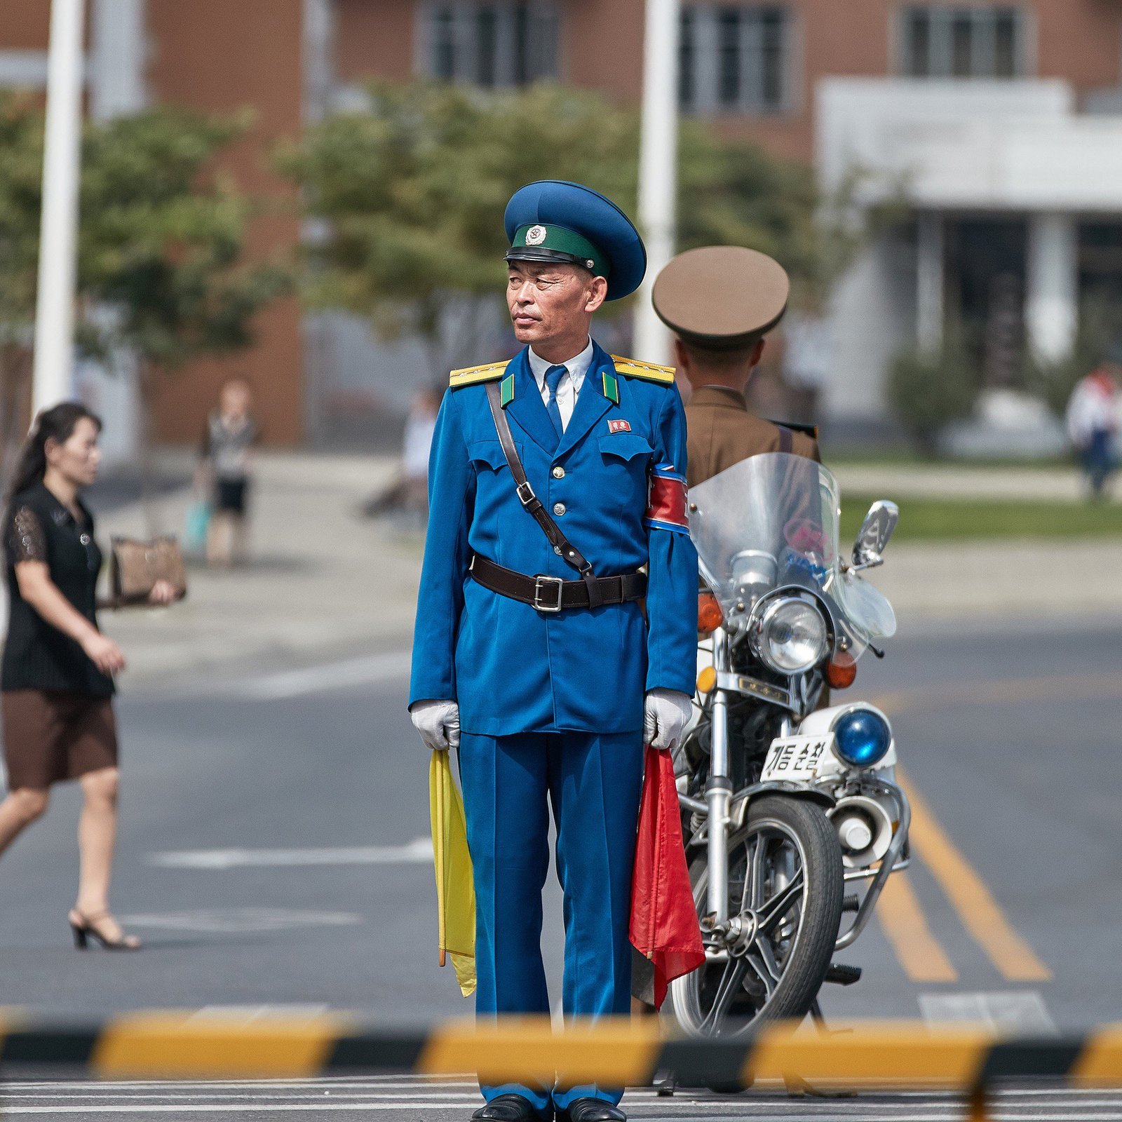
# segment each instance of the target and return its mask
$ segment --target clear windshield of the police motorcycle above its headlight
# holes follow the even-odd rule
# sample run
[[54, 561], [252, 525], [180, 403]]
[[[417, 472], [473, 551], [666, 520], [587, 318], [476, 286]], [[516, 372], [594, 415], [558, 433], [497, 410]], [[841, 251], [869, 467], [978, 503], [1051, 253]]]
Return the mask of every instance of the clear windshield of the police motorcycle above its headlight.
[[895, 633], [892, 605], [842, 571], [838, 485], [820, 463], [785, 452], [749, 457], [691, 487], [689, 514], [701, 574], [732, 629], [747, 624], [762, 597], [794, 586], [821, 597], [836, 631], [862, 649]]

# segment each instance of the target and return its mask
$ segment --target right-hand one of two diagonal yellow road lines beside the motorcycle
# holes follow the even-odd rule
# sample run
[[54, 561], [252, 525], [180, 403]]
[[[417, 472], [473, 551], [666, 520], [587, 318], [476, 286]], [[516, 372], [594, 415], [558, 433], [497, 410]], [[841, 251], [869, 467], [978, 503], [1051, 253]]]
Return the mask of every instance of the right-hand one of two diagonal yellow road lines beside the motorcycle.
[[985, 882], [955, 847], [916, 788], [899, 771], [896, 779], [911, 802], [911, 844], [966, 930], [1010, 982], [1049, 981], [1051, 971], [1013, 930]]

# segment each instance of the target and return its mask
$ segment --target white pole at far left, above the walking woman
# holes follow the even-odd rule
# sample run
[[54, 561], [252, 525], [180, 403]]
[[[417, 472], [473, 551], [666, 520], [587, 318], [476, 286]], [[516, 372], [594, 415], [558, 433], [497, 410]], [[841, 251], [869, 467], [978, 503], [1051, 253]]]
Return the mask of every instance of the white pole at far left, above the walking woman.
[[71, 393], [85, 0], [52, 0], [33, 408]]

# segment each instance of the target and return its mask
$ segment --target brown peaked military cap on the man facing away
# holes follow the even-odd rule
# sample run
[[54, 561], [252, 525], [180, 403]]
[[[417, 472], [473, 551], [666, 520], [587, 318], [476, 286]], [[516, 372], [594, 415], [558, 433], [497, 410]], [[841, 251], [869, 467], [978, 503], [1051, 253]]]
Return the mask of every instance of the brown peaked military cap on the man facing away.
[[791, 282], [779, 261], [744, 246], [679, 254], [654, 282], [659, 319], [688, 343], [735, 350], [775, 327]]

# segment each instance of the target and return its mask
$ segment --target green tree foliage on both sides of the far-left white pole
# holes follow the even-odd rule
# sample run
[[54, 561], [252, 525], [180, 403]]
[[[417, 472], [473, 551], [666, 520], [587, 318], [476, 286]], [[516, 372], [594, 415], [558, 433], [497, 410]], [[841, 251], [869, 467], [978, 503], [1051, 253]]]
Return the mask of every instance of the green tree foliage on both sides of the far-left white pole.
[[[252, 341], [252, 320], [288, 285], [245, 260], [255, 203], [214, 171], [246, 119], [155, 109], [88, 123], [77, 246], [79, 344], [139, 365], [147, 454], [157, 379], [192, 358]], [[26, 417], [43, 175], [43, 113], [0, 101], [0, 377], [4, 433]], [[8, 440], [8, 447], [16, 440]]]

